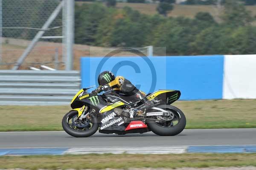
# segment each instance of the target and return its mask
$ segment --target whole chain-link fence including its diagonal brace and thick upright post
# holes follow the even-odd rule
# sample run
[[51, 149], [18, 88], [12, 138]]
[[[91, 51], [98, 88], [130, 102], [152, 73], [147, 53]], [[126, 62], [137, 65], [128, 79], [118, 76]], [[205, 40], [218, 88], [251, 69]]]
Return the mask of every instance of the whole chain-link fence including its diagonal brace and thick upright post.
[[0, 69], [54, 67], [56, 63], [59, 69], [72, 69], [73, 3], [0, 0]]

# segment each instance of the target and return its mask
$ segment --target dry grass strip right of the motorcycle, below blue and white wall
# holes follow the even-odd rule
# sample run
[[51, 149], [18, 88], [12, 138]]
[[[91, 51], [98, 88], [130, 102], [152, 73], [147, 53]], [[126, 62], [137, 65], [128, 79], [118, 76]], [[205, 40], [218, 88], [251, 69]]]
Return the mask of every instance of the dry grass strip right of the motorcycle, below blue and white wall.
[[180, 101], [186, 129], [255, 128], [256, 100]]

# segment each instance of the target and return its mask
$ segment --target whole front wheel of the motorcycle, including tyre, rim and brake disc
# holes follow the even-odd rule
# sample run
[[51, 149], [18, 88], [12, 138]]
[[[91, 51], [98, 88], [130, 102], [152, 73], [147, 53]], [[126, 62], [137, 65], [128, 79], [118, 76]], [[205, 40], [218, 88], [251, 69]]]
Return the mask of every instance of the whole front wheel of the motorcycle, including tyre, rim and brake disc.
[[79, 120], [78, 112], [71, 110], [62, 119], [62, 127], [69, 135], [74, 137], [88, 137], [96, 133], [99, 127], [96, 115], [91, 114]]

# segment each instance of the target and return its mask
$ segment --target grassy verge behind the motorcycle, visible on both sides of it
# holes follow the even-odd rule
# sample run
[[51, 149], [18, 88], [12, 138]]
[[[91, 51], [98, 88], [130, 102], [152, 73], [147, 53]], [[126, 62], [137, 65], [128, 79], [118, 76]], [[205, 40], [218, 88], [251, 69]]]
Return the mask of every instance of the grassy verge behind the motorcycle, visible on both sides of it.
[[[186, 129], [255, 128], [256, 100], [177, 101]], [[0, 106], [0, 131], [62, 130], [69, 106]]]

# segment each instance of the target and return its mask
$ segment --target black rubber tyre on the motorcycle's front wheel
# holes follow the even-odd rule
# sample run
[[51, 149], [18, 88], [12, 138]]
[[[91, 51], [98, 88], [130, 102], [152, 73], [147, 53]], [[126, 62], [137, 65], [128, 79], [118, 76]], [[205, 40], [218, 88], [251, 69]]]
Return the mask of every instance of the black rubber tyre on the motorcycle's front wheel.
[[[97, 120], [96, 115], [91, 114], [90, 115], [90, 128], [85, 129], [85, 130], [81, 130], [82, 128], [77, 128], [74, 125], [70, 125], [69, 121], [72, 118], [76, 118], [76, 116], [78, 116], [78, 112], [76, 110], [71, 110], [70, 112], [68, 112], [66, 115], [64, 115], [63, 119], [62, 119], [62, 127], [65, 130], [65, 132], [67, 132], [69, 135], [74, 136], [74, 137], [88, 137], [90, 135], [93, 135], [94, 133], [96, 133], [96, 131], [98, 130], [99, 127], [99, 123]], [[75, 128], [72, 128], [75, 127]]]

